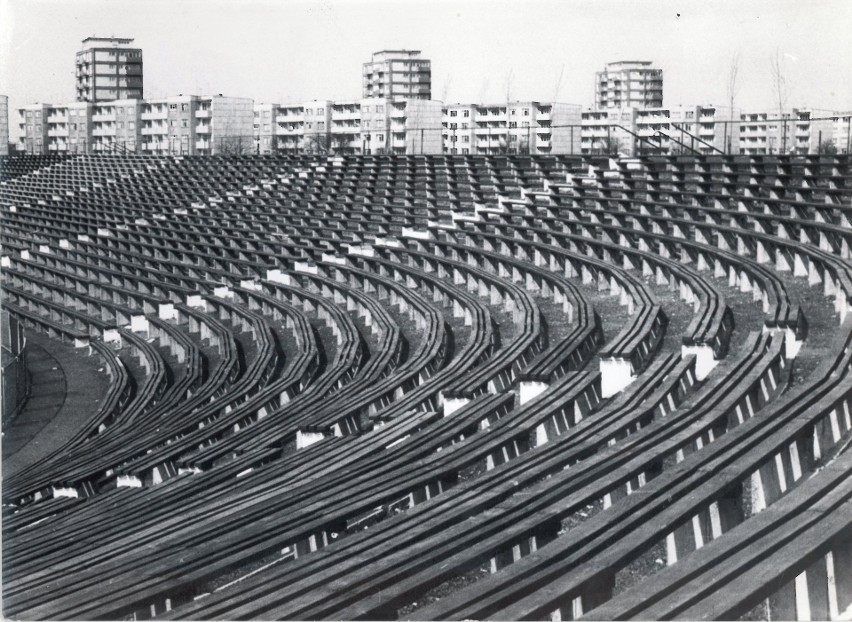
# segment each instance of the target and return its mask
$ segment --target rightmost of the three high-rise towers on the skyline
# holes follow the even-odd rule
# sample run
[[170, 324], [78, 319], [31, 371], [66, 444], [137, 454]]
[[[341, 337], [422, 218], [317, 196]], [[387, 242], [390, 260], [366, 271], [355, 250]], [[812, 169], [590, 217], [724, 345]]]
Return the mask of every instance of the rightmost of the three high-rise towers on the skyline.
[[607, 63], [595, 73], [595, 107], [662, 108], [663, 70], [652, 67], [651, 61]]

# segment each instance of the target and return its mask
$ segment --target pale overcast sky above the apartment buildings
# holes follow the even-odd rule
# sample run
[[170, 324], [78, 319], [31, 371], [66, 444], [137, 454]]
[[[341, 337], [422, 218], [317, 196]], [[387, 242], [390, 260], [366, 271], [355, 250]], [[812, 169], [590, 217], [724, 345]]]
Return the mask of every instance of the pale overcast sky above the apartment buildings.
[[[145, 96], [296, 102], [361, 95], [361, 63], [420, 49], [432, 96], [593, 103], [594, 72], [650, 60], [664, 103], [777, 107], [770, 57], [791, 106], [852, 108], [852, 0], [0, 0], [0, 93], [10, 109], [74, 99], [87, 36], [134, 37]], [[561, 76], [561, 79], [560, 79]], [[11, 124], [13, 134], [16, 123]]]

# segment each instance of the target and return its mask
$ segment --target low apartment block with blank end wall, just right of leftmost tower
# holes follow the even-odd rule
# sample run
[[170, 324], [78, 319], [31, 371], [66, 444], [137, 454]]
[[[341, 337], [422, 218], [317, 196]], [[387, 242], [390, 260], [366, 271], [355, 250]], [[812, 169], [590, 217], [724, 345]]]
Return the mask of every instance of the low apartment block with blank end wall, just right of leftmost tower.
[[142, 153], [215, 155], [254, 148], [254, 102], [242, 97], [179, 95], [142, 104]]

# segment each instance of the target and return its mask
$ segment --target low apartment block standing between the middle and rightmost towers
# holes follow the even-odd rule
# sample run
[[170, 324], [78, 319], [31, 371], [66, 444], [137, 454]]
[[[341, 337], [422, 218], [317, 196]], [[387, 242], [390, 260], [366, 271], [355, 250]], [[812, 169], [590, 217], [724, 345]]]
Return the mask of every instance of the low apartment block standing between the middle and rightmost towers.
[[451, 104], [444, 108], [449, 154], [571, 153], [580, 147], [581, 108], [558, 102]]

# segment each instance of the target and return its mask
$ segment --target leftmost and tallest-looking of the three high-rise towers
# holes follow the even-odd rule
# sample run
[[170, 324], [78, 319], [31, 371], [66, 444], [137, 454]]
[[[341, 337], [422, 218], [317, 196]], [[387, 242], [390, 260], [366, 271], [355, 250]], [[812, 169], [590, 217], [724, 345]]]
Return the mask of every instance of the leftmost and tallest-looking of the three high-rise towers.
[[77, 52], [77, 101], [142, 99], [142, 50], [133, 39], [89, 37]]

